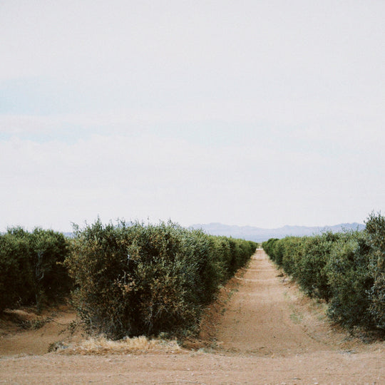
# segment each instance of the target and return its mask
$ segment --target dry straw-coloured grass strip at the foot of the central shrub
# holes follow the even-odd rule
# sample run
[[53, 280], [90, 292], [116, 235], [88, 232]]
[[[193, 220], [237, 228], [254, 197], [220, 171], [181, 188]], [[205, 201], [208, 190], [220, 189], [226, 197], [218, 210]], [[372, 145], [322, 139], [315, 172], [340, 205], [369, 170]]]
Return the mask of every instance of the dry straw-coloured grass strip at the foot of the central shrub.
[[57, 351], [63, 354], [128, 354], [146, 351], [180, 350], [175, 340], [148, 339], [147, 337], [125, 338], [111, 341], [106, 337], [89, 338], [78, 344], [61, 346]]

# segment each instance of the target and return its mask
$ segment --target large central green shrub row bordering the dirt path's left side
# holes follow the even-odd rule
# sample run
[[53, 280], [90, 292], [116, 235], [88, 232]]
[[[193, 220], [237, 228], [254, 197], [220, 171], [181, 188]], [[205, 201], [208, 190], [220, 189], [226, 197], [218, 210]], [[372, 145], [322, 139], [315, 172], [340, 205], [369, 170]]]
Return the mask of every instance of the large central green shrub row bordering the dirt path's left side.
[[197, 327], [218, 286], [256, 244], [213, 237], [172, 222], [76, 228], [66, 266], [73, 301], [92, 332], [108, 337], [180, 333]]

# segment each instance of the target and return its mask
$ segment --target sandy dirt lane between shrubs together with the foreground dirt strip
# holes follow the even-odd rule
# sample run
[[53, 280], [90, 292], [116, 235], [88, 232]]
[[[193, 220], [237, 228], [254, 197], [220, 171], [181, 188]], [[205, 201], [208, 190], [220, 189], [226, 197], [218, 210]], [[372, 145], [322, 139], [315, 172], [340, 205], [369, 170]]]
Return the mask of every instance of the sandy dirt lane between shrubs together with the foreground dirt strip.
[[215, 307], [214, 349], [6, 356], [0, 347], [0, 384], [385, 384], [384, 342], [332, 328], [324, 305], [262, 250]]

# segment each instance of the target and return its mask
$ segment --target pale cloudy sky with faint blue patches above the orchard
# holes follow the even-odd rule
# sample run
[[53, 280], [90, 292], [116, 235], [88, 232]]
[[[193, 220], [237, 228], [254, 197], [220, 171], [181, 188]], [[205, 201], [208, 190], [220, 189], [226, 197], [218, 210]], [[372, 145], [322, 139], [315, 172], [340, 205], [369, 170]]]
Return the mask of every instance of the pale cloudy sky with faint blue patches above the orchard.
[[385, 1], [0, 2], [0, 231], [385, 207]]

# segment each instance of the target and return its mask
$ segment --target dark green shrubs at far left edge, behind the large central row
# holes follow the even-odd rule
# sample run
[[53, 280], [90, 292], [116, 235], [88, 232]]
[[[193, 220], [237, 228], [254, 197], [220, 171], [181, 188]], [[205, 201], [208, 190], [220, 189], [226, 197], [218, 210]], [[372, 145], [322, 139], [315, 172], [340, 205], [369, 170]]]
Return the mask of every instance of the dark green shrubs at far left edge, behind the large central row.
[[0, 235], [0, 312], [22, 304], [56, 302], [71, 282], [61, 264], [69, 252], [63, 234], [36, 228], [10, 228]]

